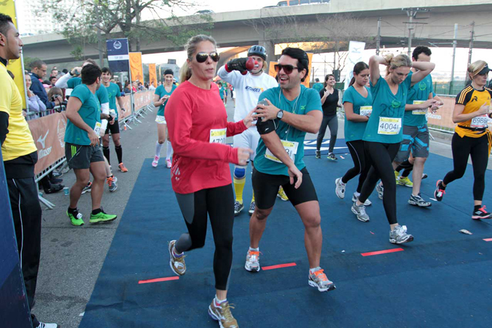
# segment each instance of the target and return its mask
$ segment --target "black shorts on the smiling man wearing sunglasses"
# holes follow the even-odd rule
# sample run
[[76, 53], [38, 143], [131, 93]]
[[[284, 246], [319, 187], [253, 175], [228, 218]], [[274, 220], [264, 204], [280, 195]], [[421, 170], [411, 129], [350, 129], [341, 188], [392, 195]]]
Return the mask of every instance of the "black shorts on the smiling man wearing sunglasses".
[[290, 184], [290, 178], [287, 175], [268, 175], [254, 169], [252, 183], [257, 207], [261, 210], [273, 207], [280, 186], [283, 187], [293, 206], [306, 203], [306, 201], [318, 201], [316, 189], [314, 189], [308, 170], [303, 168], [301, 172], [302, 184], [298, 189], [295, 189], [294, 184]]

